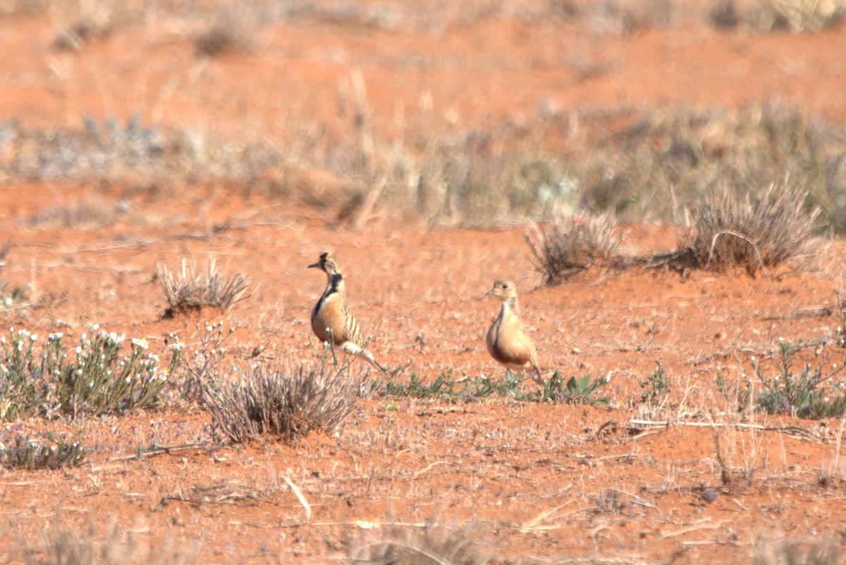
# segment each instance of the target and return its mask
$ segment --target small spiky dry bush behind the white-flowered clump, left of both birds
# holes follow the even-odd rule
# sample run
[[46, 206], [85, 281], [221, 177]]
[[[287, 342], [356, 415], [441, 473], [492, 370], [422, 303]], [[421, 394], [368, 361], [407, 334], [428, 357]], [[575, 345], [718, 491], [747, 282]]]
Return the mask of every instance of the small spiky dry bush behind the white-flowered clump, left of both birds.
[[162, 282], [165, 299], [170, 308], [166, 316], [179, 312], [201, 310], [203, 306], [214, 306], [224, 313], [239, 301], [246, 299], [250, 277], [237, 274], [224, 277], [217, 272], [217, 261], [209, 260], [208, 270], [198, 273], [194, 262], [182, 261], [182, 273], [174, 277], [166, 266], [156, 266], [159, 281]]

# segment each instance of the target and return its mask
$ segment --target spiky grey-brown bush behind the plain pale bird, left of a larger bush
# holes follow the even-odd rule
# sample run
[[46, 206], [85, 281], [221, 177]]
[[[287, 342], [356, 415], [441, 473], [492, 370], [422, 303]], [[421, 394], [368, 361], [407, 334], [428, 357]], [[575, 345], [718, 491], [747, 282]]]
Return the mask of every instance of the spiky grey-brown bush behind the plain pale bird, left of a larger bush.
[[523, 238], [532, 263], [544, 282], [567, 280], [591, 266], [612, 266], [619, 261], [617, 247], [623, 239], [616, 220], [609, 214], [573, 217], [552, 216], [531, 223]]

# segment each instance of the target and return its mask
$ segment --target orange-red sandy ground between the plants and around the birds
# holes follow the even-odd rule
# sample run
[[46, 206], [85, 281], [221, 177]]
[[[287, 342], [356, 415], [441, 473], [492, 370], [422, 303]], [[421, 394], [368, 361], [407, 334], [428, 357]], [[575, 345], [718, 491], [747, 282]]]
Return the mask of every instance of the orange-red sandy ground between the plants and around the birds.
[[[386, 129], [398, 107], [416, 107], [426, 91], [436, 114], [453, 112], [467, 127], [525, 119], [544, 101], [563, 111], [648, 110], [776, 98], [846, 120], [839, 96], [846, 73], [842, 58], [832, 56], [846, 52], [846, 28], [758, 36], [688, 23], [615, 36], [563, 22], [482, 20], [439, 32], [304, 23], [268, 27], [260, 48], [212, 60], [195, 58], [177, 28], [168, 21], [126, 25], [80, 52], [56, 52], [46, 17], [2, 19], [0, 115], [34, 127], [79, 127], [84, 113], [124, 118], [140, 110], [165, 125], [272, 135], [292, 112], [330, 119], [339, 78], [360, 68]], [[578, 66], [602, 71], [582, 76]], [[125, 198], [129, 212], [107, 228], [22, 221], [56, 201], [93, 196]], [[820, 272], [783, 269], [756, 279], [590, 272], [546, 288], [537, 286], [522, 228], [418, 233], [383, 211], [350, 232], [330, 227], [320, 211], [203, 186], [146, 196], [117, 186], [14, 183], [0, 190], [0, 212], [0, 240], [13, 242], [3, 277], [28, 286], [31, 303], [4, 310], [3, 322], [41, 336], [62, 331], [72, 343], [98, 323], [149, 337], [154, 347], [178, 332], [193, 348], [195, 323], [208, 315], [236, 328], [233, 356], [261, 346], [267, 363], [314, 359], [308, 315], [325, 280], [305, 266], [322, 250], [336, 250], [352, 308], [387, 364], [413, 359], [409, 371], [428, 379], [450, 370], [502, 374], [483, 342], [498, 304], [483, 294], [507, 275], [519, 282], [541, 365], [568, 376], [611, 376], [611, 408], [375, 398], [337, 437], [144, 460], [122, 456], [151, 442], [207, 441], [209, 416], [172, 408], [8, 423], [8, 431], [48, 426], [80, 435], [101, 450], [78, 469], [0, 473], [5, 562], [21, 559], [19, 547], [57, 521], [80, 531], [93, 522], [100, 539], [116, 520], [148, 546], [198, 543], [204, 562], [337, 562], [347, 544], [384, 539], [387, 526], [365, 526], [385, 522], [475, 524], [472, 536], [496, 562], [519, 563], [744, 563], [762, 532], [800, 541], [843, 535], [838, 420], [757, 416], [747, 422], [774, 429], [630, 432], [640, 416], [638, 383], [656, 360], [678, 408], [647, 415], [701, 423], [710, 413], [730, 422], [736, 417], [714, 384], [718, 366], [736, 379], [778, 337], [832, 337], [843, 244], [828, 252]], [[212, 229], [222, 222], [228, 228]], [[633, 253], [673, 249], [669, 228], [625, 231]], [[167, 304], [157, 264], [176, 269], [185, 258], [202, 265], [209, 255], [223, 272], [249, 274], [250, 298], [226, 316], [162, 320]], [[823, 355], [827, 362], [846, 356], [833, 344]], [[801, 359], [816, 362], [812, 348]], [[746, 476], [724, 484], [718, 453]], [[283, 477], [299, 486], [310, 518]], [[709, 487], [719, 495], [713, 502], [701, 496]]]

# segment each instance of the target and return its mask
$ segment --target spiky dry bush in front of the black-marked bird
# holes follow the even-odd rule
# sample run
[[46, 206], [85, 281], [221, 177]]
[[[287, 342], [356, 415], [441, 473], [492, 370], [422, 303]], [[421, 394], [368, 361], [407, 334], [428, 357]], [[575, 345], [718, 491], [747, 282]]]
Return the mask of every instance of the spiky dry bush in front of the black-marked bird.
[[221, 381], [212, 374], [201, 383], [212, 427], [230, 442], [270, 435], [295, 443], [312, 431], [337, 430], [358, 407], [360, 383], [348, 364], [254, 365], [234, 376]]

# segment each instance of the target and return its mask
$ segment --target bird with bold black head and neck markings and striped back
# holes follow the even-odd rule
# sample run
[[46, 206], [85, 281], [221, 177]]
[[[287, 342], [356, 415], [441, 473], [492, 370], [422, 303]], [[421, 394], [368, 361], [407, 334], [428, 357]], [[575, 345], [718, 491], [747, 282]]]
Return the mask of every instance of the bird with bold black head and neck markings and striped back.
[[347, 305], [347, 293], [341, 274], [341, 263], [331, 251], [321, 254], [320, 260], [309, 265], [310, 269], [320, 269], [326, 273], [327, 284], [323, 295], [311, 309], [311, 329], [322, 341], [330, 343], [332, 348], [339, 347], [346, 353], [364, 359], [376, 369], [387, 373], [370, 351], [365, 349], [366, 340], [361, 333], [359, 321], [355, 319]]

